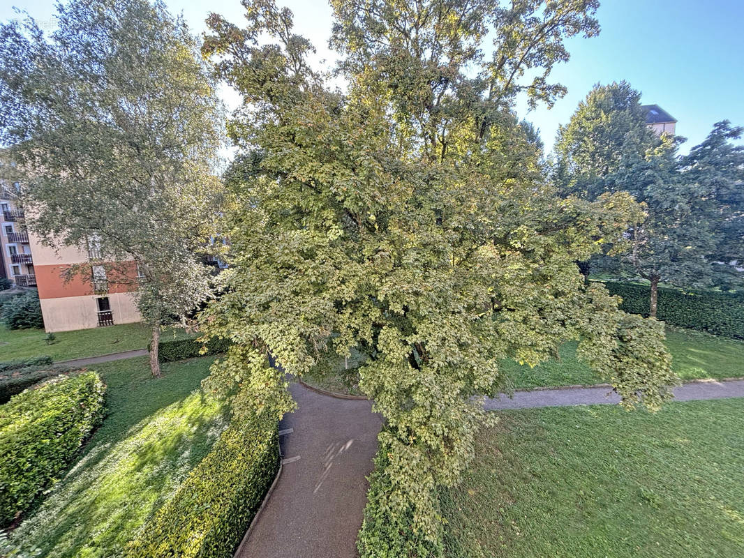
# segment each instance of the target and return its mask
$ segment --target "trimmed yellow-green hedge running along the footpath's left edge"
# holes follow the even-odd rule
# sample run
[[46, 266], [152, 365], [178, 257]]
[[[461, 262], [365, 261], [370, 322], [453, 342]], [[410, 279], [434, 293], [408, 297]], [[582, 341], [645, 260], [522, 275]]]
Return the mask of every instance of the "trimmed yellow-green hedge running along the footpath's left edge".
[[129, 544], [127, 558], [231, 558], [279, 470], [277, 423], [232, 424]]

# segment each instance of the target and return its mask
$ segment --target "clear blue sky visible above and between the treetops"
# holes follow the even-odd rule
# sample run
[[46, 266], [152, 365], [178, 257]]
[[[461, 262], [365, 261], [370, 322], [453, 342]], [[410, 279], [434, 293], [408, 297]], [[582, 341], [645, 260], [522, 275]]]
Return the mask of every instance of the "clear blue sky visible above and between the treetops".
[[[326, 0], [277, 0], [295, 13], [298, 32], [333, 60], [327, 50], [331, 10]], [[205, 29], [210, 11], [243, 21], [239, 0], [166, 0], [182, 12], [196, 33]], [[54, 25], [52, 0], [4, 0], [0, 19], [13, 17], [11, 6], [28, 10], [48, 28]], [[688, 138], [686, 152], [699, 144], [713, 124], [728, 119], [744, 126], [744, 0], [602, 0], [597, 11], [598, 37], [568, 41], [571, 60], [554, 68], [553, 77], [568, 94], [553, 109], [520, 114], [539, 127], [549, 149], [559, 124], [565, 124], [594, 83], [627, 80], [642, 92], [643, 103], [656, 103], [673, 115], [677, 133]], [[234, 98], [225, 94], [228, 106]]]

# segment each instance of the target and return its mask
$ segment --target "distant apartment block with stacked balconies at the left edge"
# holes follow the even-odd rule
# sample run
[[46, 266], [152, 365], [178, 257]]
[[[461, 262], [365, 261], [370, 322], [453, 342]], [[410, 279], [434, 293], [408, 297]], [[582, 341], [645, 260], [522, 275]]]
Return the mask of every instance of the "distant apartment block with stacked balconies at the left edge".
[[25, 227], [19, 192], [18, 182], [0, 184], [0, 275], [17, 286], [36, 286], [31, 241]]

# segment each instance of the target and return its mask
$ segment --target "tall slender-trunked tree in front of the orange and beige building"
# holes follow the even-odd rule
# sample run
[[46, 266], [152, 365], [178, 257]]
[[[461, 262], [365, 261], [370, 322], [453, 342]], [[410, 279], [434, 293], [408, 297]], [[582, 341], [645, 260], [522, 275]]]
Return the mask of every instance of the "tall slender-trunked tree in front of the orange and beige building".
[[51, 36], [32, 19], [0, 26], [1, 141], [33, 231], [88, 251], [71, 272], [99, 289], [132, 283], [158, 375], [161, 324], [207, 295], [197, 252], [218, 209], [213, 80], [161, 2], [73, 1], [57, 22]]

